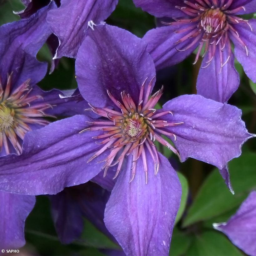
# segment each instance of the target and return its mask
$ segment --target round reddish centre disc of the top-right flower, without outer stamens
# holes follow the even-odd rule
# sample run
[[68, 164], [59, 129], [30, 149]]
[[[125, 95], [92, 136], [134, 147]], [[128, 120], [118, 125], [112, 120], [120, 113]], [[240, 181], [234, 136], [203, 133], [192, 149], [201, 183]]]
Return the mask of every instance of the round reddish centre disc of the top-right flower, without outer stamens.
[[201, 27], [208, 35], [217, 34], [226, 27], [226, 15], [217, 9], [210, 9], [201, 17]]

